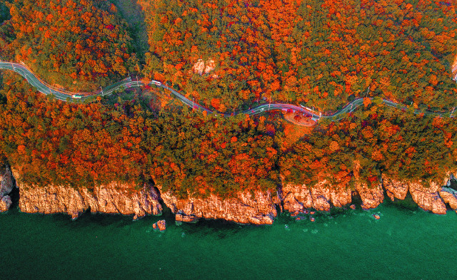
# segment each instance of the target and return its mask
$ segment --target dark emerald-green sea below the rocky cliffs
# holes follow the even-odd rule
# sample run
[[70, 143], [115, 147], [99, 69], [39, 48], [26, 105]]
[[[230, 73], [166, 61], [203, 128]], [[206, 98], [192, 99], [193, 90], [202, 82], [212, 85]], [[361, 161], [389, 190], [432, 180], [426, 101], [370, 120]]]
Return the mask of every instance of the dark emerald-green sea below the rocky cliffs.
[[[374, 213], [381, 219], [376, 220]], [[457, 279], [457, 214], [392, 203], [270, 226], [0, 214], [0, 279]], [[152, 224], [166, 219], [165, 232]]]

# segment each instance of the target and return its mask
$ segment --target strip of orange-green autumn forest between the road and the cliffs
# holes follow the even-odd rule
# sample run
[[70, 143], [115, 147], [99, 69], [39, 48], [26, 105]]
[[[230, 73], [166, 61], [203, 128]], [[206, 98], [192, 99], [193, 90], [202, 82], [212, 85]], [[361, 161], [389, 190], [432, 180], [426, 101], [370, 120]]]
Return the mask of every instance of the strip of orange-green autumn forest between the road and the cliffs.
[[33, 186], [152, 180], [180, 197], [226, 197], [273, 192], [281, 180], [310, 187], [323, 180], [352, 187], [359, 180], [374, 187], [384, 174], [441, 183], [457, 167], [453, 118], [413, 115], [376, 101], [285, 145], [288, 135], [275, 115], [151, 111], [136, 100], [71, 104], [35, 93], [16, 74], [4, 83], [0, 150]]

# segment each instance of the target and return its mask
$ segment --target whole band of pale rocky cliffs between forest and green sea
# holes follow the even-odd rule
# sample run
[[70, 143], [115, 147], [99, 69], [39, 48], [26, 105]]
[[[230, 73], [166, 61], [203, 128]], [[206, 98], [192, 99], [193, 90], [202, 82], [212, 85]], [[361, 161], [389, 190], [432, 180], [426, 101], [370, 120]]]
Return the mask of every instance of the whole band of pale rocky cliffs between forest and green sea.
[[[17, 177], [17, 172], [14, 172]], [[450, 174], [450, 178], [453, 175]], [[20, 179], [20, 178], [19, 178]], [[276, 217], [276, 206], [288, 212], [304, 212], [313, 208], [328, 211], [331, 207], [344, 207], [352, 201], [353, 193], [361, 198], [361, 207], [371, 209], [383, 202], [385, 191], [392, 200], [405, 199], [408, 192], [426, 211], [436, 214], [446, 214], [446, 204], [457, 209], [457, 191], [449, 187], [441, 187], [431, 183], [425, 187], [422, 182], [400, 181], [386, 175], [381, 176], [381, 184], [368, 187], [365, 183], [356, 182], [353, 190], [348, 187], [335, 187], [326, 180], [308, 187], [283, 182], [275, 194], [271, 192], [240, 192], [236, 197], [221, 199], [210, 195], [204, 199], [189, 197], [179, 199], [170, 192], [156, 191], [151, 185], [144, 185], [141, 190], [134, 190], [127, 185], [112, 183], [106, 186], [94, 187], [94, 190], [76, 190], [64, 186], [29, 187], [21, 184], [19, 187], [19, 208], [29, 213], [66, 213], [76, 218], [82, 212], [109, 214], [134, 214], [138, 217], [146, 214], [161, 214], [162, 199], [167, 207], [176, 214], [176, 221], [195, 222], [199, 218], [225, 219], [241, 224], [271, 224]], [[9, 207], [11, 199], [7, 193], [14, 185], [11, 171], [1, 177], [1, 202]], [[446, 182], [446, 181], [445, 181]]]

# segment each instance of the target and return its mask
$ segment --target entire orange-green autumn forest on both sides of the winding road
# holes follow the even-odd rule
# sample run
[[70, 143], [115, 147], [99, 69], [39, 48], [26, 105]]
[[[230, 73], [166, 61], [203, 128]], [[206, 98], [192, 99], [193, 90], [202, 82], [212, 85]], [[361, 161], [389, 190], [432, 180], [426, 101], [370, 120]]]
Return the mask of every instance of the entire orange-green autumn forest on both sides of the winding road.
[[[125, 19], [102, 0], [6, 1], [0, 56], [67, 88], [94, 89], [142, 71], [219, 111], [283, 102], [328, 113], [355, 98], [364, 98], [363, 105], [291, 140], [280, 113], [222, 118], [176, 105], [154, 85], [115, 93], [117, 100], [65, 103], [2, 71], [0, 157], [24, 182], [90, 188], [152, 180], [180, 197], [226, 197], [273, 192], [283, 182], [353, 187], [359, 180], [374, 187], [381, 174], [426, 185], [457, 169], [452, 113], [413, 114], [457, 105], [454, 4], [139, 4], [149, 38], [143, 66]], [[141, 99], [146, 95], [151, 100]]]

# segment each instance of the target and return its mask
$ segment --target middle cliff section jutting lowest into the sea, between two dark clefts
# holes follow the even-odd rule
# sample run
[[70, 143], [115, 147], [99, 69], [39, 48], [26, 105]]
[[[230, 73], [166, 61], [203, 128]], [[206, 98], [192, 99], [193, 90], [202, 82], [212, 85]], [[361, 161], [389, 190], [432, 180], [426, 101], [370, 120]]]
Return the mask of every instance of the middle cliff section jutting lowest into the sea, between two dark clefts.
[[237, 197], [229, 199], [221, 199], [215, 195], [205, 199], [178, 199], [170, 192], [161, 192], [161, 199], [176, 213], [176, 220], [183, 222], [205, 218], [225, 219], [240, 224], [272, 224], [277, 215], [270, 192], [256, 191], [253, 195], [251, 192], [240, 192]]

